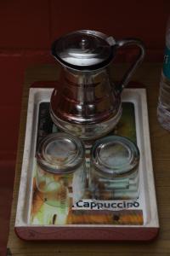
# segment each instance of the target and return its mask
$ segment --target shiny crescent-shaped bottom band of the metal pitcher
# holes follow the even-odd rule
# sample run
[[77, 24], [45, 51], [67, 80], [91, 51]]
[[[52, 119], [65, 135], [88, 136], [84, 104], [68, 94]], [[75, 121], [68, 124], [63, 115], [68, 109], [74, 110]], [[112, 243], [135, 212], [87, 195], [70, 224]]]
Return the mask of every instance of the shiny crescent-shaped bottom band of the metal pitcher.
[[52, 108], [49, 109], [50, 115], [54, 124], [57, 125], [62, 131], [71, 133], [77, 137], [81, 137], [82, 140], [94, 140], [98, 137], [103, 137], [109, 133], [116, 124], [119, 122], [122, 116], [122, 105], [118, 109], [116, 115], [110, 119], [106, 119], [103, 122], [92, 125], [80, 125], [65, 120], [59, 119], [54, 114]]

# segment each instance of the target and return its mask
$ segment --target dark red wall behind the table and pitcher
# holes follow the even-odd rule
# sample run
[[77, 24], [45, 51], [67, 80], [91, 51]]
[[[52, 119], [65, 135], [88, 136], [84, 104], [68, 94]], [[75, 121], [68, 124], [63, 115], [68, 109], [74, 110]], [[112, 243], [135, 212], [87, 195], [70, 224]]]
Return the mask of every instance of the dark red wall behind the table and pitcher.
[[[50, 45], [66, 32], [93, 29], [140, 38], [144, 61], [162, 61], [170, 1], [0, 1], [0, 255], [6, 245], [26, 67], [54, 63]], [[128, 61], [125, 52], [119, 61]]]

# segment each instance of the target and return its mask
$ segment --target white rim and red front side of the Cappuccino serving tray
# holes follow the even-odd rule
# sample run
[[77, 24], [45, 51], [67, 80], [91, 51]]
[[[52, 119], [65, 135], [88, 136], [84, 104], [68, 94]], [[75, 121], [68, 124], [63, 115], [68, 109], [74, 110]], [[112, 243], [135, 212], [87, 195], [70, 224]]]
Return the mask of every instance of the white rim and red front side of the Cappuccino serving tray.
[[[159, 221], [151, 161], [146, 93], [144, 89], [125, 89], [122, 93], [122, 102], [132, 102], [134, 106], [136, 137], [140, 151], [139, 199], [136, 202], [136, 206], [126, 211], [141, 210], [143, 224], [31, 224], [38, 111], [41, 102], [49, 102], [52, 91], [53, 89], [47, 88], [32, 88], [30, 90], [26, 141], [15, 219], [16, 234], [25, 240], [147, 241], [153, 239], [159, 229]], [[90, 200], [88, 202], [90, 206]], [[120, 207], [117, 207], [118, 203], [122, 203], [122, 201], [116, 202], [114, 211], [120, 210]], [[125, 210], [122, 209], [123, 211]]]

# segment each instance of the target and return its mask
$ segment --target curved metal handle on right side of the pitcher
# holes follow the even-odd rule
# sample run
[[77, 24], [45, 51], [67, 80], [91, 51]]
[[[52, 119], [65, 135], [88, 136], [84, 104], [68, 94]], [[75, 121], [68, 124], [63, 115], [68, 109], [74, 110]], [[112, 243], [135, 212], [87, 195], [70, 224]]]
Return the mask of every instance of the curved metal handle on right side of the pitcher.
[[131, 67], [128, 68], [127, 72], [124, 74], [122, 78], [122, 82], [118, 84], [117, 90], [118, 92], [122, 92], [122, 90], [126, 87], [127, 83], [129, 82], [131, 76], [133, 75], [133, 72], [136, 70], [137, 67], [139, 67], [139, 64], [143, 61], [144, 59], [144, 54], [145, 54], [145, 46], [144, 43], [137, 39], [137, 38], [127, 38], [127, 39], [122, 39], [122, 40], [117, 40], [116, 41], [116, 47], [121, 48], [122, 46], [125, 45], [136, 45], [139, 47], [139, 55], [137, 55], [136, 60], [133, 62]]

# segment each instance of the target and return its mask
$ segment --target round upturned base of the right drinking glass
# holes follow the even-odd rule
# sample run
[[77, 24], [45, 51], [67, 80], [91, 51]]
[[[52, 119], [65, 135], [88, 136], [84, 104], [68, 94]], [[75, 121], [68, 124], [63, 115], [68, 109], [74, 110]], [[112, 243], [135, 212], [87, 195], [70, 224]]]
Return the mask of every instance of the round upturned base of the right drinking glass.
[[103, 175], [127, 176], [139, 165], [139, 148], [127, 137], [104, 137], [94, 143], [91, 160]]

